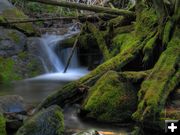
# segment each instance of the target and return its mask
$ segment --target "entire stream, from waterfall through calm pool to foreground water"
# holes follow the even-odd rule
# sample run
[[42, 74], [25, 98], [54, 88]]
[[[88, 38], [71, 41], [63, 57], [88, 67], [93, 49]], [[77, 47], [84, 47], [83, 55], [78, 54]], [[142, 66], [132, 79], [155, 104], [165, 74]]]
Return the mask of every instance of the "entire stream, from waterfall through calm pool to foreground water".
[[[74, 52], [66, 73], [63, 73], [63, 70], [68, 55], [70, 55], [71, 48], [62, 49], [60, 52], [55, 51], [57, 45], [60, 44], [60, 41], [77, 32], [78, 31], [70, 32], [63, 36], [42, 35], [40, 38], [41, 45], [39, 49], [41, 49], [43, 53], [40, 54], [39, 57], [46, 73], [34, 78], [13, 82], [13, 84], [8, 87], [0, 86], [1, 95], [20, 95], [24, 98], [25, 102], [38, 104], [66, 83], [86, 75], [89, 71], [86, 67], [81, 67], [79, 64], [77, 51]], [[102, 131], [105, 135], [123, 135], [129, 132], [129, 129], [127, 128], [81, 120], [77, 115], [78, 111], [78, 105], [66, 106], [64, 108], [67, 135], [88, 129]]]

